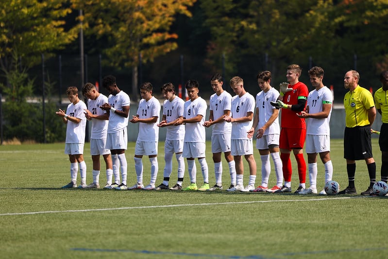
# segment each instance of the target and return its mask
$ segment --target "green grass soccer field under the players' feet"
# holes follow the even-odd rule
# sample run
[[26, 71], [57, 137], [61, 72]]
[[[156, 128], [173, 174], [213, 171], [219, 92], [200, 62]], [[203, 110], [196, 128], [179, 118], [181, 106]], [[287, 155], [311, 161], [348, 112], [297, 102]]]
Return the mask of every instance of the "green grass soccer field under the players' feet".
[[[380, 180], [381, 154], [377, 139], [372, 141]], [[157, 185], [163, 180], [163, 145], [159, 143]], [[343, 189], [347, 175], [342, 140], [333, 139], [331, 145], [333, 179]], [[129, 143], [126, 152], [128, 185], [136, 179], [134, 148], [135, 143]], [[87, 144], [84, 156], [90, 183]], [[206, 158], [210, 185], [214, 185], [210, 143]], [[255, 158], [257, 186], [261, 181], [257, 151]], [[293, 155], [291, 159], [296, 190], [298, 174]], [[143, 163], [144, 184], [148, 184], [148, 158]], [[61, 190], [70, 177], [64, 143], [0, 146], [0, 164], [1, 258], [387, 258], [385, 197]], [[269, 185], [273, 186], [271, 165]], [[224, 159], [223, 168], [224, 187], [228, 187]], [[176, 161], [171, 185], [176, 181], [175, 170]], [[321, 161], [318, 170], [320, 191], [324, 182]], [[100, 184], [104, 186], [105, 181], [102, 170]], [[202, 182], [200, 171], [197, 182]], [[185, 172], [184, 187], [188, 184]], [[358, 193], [368, 187], [364, 161], [357, 161], [355, 184]]]

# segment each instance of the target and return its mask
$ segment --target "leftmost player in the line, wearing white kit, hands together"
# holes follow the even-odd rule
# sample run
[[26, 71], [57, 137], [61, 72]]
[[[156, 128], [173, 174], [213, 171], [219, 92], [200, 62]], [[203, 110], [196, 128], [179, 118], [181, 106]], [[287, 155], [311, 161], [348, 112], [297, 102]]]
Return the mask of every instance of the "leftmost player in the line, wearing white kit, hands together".
[[70, 160], [70, 183], [62, 188], [77, 187], [78, 164], [81, 173], [81, 184], [78, 188], [86, 187], [86, 163], [84, 161], [84, 144], [86, 118], [84, 109], [86, 104], [78, 98], [78, 89], [75, 86], [69, 86], [66, 89], [67, 98], [70, 104], [67, 105], [66, 112], [59, 109], [56, 115], [62, 117], [66, 126], [65, 154]]

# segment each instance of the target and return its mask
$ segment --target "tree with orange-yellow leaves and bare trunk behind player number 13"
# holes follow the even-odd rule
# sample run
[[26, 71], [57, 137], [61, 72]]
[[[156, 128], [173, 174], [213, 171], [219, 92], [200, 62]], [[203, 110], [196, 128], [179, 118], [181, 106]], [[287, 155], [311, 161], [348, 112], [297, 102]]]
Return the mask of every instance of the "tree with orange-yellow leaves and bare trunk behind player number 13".
[[[137, 67], [175, 50], [178, 35], [170, 33], [176, 14], [191, 16], [196, 0], [72, 0], [82, 9], [85, 34], [104, 37], [108, 65], [132, 68], [133, 94], [138, 91]], [[135, 96], [134, 96], [135, 97]], [[136, 97], [134, 98], [136, 99]]]

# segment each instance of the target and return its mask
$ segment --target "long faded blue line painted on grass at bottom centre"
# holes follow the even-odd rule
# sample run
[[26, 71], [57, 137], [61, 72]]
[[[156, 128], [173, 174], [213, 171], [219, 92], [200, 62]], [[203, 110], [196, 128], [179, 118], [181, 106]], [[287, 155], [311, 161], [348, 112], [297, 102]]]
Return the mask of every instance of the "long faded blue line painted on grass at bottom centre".
[[270, 259], [260, 255], [256, 256], [223, 256], [223, 255], [209, 255], [209, 254], [190, 254], [181, 252], [162, 252], [149, 250], [127, 250], [127, 249], [94, 249], [94, 248], [70, 248], [73, 251], [82, 252], [108, 252], [108, 253], [135, 253], [135, 254], [150, 254], [150, 255], [170, 255], [170, 256], [189, 256], [189, 257], [205, 257], [205, 258], [225, 258], [225, 259]]

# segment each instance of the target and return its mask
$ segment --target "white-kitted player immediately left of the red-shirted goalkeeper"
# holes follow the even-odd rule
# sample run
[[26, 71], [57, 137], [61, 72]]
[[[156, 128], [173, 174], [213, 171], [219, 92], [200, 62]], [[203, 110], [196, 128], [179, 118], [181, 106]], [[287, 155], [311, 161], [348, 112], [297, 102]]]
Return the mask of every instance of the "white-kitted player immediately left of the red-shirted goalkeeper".
[[[271, 101], [276, 102], [280, 93], [270, 85], [271, 77], [270, 71], [262, 71], [257, 74], [256, 79], [261, 91], [256, 95], [256, 114], [253, 126], [248, 131], [248, 138], [253, 138], [256, 129], [256, 148], [261, 159], [261, 184], [252, 190], [254, 192], [275, 192], [283, 186], [282, 160], [279, 155], [279, 109], [270, 104]], [[270, 155], [275, 166], [276, 185], [269, 189]]]

